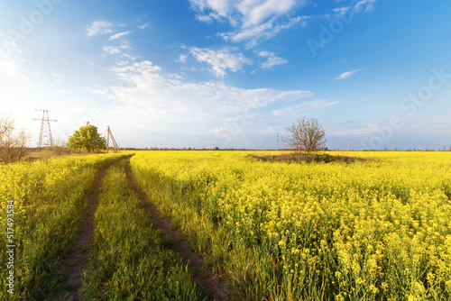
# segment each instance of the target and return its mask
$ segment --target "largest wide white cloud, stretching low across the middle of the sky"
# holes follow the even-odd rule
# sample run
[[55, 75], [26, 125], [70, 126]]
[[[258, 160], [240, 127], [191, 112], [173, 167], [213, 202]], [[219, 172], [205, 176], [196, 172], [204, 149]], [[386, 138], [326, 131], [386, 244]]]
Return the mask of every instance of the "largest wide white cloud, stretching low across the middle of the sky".
[[280, 91], [270, 88], [244, 89], [222, 81], [192, 83], [144, 60], [111, 68], [121, 82], [114, 87], [97, 87], [92, 92], [126, 105], [146, 120], [161, 123], [226, 122], [250, 114], [249, 108], [311, 96], [308, 91]]

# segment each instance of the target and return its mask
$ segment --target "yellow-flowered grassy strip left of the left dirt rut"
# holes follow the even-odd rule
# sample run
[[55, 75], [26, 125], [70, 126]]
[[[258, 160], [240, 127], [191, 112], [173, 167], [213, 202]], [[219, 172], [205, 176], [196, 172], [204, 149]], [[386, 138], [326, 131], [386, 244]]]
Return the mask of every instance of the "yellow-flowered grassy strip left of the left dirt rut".
[[[14, 200], [14, 294], [1, 280], [2, 300], [51, 300], [63, 278], [63, 259], [78, 231], [79, 217], [100, 170], [117, 156], [60, 158], [0, 166], [2, 214]], [[2, 240], [2, 242], [5, 242]], [[6, 243], [0, 245], [2, 260]], [[0, 275], [9, 272], [5, 261]]]

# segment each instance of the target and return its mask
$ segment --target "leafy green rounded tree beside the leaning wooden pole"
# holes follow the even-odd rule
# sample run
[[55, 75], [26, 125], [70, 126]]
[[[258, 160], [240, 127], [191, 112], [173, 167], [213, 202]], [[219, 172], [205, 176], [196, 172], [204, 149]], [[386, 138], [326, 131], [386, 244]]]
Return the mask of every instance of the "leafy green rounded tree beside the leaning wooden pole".
[[69, 150], [106, 150], [106, 139], [97, 132], [97, 126], [86, 125], [75, 131], [68, 140]]

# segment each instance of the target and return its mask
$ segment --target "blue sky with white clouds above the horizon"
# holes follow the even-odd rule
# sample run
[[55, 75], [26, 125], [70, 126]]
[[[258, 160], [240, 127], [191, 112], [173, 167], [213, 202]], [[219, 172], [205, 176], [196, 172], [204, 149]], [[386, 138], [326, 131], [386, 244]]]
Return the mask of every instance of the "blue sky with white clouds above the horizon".
[[[451, 2], [5, 0], [0, 109], [38, 140], [87, 121], [123, 147], [451, 146]], [[282, 146], [282, 143], [281, 143]]]

